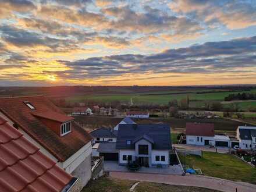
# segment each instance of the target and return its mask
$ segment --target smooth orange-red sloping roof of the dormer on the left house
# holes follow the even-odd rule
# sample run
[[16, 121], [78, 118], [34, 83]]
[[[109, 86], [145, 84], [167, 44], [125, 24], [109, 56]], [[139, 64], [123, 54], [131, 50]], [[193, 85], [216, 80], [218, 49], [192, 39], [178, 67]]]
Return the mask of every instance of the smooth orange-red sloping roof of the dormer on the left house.
[[65, 122], [69, 122], [70, 120], [74, 120], [74, 118], [72, 118], [71, 116], [66, 116], [66, 115], [63, 115], [62, 113], [57, 113], [54, 111], [49, 111], [47, 113], [32, 112], [32, 114], [34, 116], [38, 116], [40, 118], [51, 119], [51, 120], [55, 120], [56, 122], [60, 122], [60, 123], [65, 123]]

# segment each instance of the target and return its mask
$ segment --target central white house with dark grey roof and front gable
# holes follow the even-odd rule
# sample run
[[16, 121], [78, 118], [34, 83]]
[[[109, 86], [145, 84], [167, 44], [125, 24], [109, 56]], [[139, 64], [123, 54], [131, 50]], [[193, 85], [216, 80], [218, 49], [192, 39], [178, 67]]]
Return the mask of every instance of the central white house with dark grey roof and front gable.
[[141, 166], [170, 165], [169, 125], [119, 125], [116, 150], [119, 165], [136, 161]]

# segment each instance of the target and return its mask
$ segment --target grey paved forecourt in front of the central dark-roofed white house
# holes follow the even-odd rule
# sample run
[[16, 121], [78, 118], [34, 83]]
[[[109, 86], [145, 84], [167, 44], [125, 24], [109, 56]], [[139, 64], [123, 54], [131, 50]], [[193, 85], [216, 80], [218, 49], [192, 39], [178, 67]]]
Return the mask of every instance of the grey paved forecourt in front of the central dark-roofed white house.
[[[124, 165], [118, 165], [116, 161], [104, 161], [105, 171], [118, 171], [118, 172], [129, 172]], [[158, 174], [169, 174], [169, 175], [182, 175], [182, 168], [180, 165], [169, 166], [168, 168], [145, 168], [141, 167], [139, 173], [158, 173]]]

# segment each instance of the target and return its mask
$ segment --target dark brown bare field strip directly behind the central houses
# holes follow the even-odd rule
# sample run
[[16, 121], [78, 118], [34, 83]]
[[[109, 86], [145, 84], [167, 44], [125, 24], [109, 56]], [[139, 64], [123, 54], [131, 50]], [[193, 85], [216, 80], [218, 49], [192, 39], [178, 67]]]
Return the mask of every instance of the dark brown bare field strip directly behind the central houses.
[[[76, 122], [79, 122], [87, 130], [97, 129], [99, 127], [115, 127], [123, 118], [112, 118], [106, 116], [74, 116]], [[141, 124], [157, 124], [166, 123], [172, 127], [172, 130], [176, 128], [186, 128], [187, 122], [197, 123], [214, 123], [216, 131], [235, 131], [238, 126], [244, 125], [242, 122], [237, 122], [229, 119], [176, 119], [176, 118], [149, 118], [149, 119], [133, 119], [137, 123]], [[247, 126], [250, 124], [247, 123]], [[179, 131], [180, 132], [180, 131]]]

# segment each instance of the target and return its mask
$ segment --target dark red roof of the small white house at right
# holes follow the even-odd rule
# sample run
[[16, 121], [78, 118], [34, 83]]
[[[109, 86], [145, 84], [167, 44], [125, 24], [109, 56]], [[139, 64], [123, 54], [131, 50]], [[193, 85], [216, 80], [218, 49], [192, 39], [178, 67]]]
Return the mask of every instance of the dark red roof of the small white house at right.
[[186, 123], [188, 136], [214, 137], [214, 124], [212, 123]]

